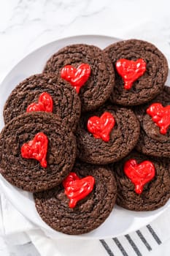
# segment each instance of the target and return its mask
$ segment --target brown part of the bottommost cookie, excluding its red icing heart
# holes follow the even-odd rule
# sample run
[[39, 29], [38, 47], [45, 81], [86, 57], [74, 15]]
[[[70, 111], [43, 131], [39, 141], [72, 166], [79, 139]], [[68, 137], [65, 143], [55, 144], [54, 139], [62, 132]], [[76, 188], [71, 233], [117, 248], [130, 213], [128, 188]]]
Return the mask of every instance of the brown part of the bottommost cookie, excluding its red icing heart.
[[115, 177], [109, 167], [76, 162], [72, 172], [79, 178], [93, 176], [93, 190], [74, 208], [69, 207], [69, 198], [63, 185], [34, 194], [36, 210], [40, 217], [62, 233], [79, 235], [88, 233], [109, 217], [117, 196]]

